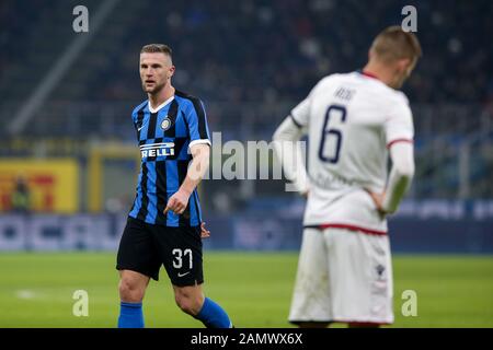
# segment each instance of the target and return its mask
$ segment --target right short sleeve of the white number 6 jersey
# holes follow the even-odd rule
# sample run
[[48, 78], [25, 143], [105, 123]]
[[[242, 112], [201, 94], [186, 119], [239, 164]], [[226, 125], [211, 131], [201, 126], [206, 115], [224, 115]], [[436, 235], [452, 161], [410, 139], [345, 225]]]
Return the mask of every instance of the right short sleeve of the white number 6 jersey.
[[406, 102], [400, 102], [391, 108], [385, 121], [385, 133], [387, 148], [397, 142], [413, 142], [413, 116]]

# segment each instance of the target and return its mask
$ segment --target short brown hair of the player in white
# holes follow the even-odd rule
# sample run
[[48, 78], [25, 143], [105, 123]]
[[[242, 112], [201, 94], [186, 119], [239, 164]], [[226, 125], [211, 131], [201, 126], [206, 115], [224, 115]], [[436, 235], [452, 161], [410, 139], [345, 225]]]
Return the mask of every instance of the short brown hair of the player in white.
[[389, 26], [380, 32], [371, 44], [370, 50], [383, 61], [405, 58], [417, 61], [423, 55], [416, 35], [404, 32], [399, 25]]

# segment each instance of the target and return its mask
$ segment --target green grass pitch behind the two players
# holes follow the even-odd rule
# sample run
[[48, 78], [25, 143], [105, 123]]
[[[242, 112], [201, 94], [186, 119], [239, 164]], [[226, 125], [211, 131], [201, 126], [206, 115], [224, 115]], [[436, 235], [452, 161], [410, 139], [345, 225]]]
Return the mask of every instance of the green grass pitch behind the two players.
[[[205, 255], [205, 291], [238, 328], [290, 327], [296, 253]], [[118, 276], [113, 254], [1, 254], [0, 327], [115, 327]], [[394, 327], [493, 327], [493, 256], [395, 256]], [[76, 290], [89, 294], [89, 316], [76, 317]], [[417, 294], [417, 316], [404, 317], [404, 290]], [[147, 327], [202, 327], [174, 304], [164, 270], [145, 300]]]

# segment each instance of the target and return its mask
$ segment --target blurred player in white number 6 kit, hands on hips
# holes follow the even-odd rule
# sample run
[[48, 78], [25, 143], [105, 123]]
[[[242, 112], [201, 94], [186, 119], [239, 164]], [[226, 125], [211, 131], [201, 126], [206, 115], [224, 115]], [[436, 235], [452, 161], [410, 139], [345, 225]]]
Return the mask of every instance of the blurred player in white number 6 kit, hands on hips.
[[[300, 327], [393, 322], [386, 215], [414, 175], [412, 114], [398, 89], [420, 57], [414, 34], [386, 28], [363, 71], [322, 79], [274, 133], [286, 175], [308, 196], [289, 314]], [[308, 172], [293, 148], [303, 135]]]

